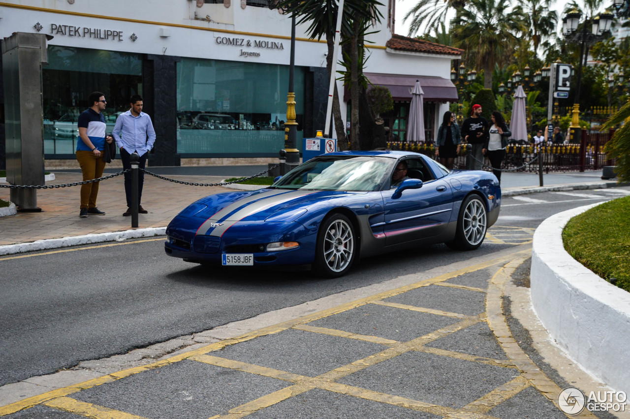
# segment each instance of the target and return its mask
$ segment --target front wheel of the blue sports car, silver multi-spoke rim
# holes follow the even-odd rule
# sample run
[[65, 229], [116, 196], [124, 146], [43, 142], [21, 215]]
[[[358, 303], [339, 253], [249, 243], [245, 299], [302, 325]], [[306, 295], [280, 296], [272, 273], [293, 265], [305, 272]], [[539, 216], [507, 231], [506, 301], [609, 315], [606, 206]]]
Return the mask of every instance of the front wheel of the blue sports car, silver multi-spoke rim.
[[328, 215], [319, 227], [313, 272], [321, 277], [345, 275], [357, 257], [357, 234], [348, 217]]

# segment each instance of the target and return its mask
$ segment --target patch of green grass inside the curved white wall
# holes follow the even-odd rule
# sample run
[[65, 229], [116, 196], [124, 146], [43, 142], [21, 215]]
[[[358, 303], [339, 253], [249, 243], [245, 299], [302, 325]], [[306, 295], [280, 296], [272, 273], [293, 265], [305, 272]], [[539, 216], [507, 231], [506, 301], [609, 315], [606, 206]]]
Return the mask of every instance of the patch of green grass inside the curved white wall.
[[575, 260], [630, 292], [630, 197], [605, 202], [574, 217], [562, 237]]

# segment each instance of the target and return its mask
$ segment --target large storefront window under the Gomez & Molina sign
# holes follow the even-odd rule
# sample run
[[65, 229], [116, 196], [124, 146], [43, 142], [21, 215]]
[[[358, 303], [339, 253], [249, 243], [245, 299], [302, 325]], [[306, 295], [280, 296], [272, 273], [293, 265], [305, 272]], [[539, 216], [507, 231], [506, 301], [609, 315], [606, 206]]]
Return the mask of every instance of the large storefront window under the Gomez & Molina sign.
[[[177, 152], [182, 157], [277, 156], [284, 148], [289, 66], [182, 58], [177, 64]], [[295, 67], [297, 146], [304, 70]]]

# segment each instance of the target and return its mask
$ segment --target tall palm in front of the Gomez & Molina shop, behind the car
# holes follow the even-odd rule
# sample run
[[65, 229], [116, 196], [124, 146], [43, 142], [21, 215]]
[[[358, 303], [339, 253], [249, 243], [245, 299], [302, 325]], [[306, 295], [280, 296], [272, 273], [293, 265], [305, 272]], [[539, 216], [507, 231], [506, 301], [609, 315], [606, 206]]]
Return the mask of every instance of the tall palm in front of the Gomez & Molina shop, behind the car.
[[[328, 76], [331, 75], [333, 68], [333, 52], [335, 49], [335, 30], [337, 13], [339, 10], [336, 0], [280, 0], [276, 7], [285, 9], [286, 13], [295, 14], [296, 25], [307, 23], [309, 26], [306, 32], [311, 39], [326, 37], [326, 44], [328, 45], [328, 55], [326, 56], [326, 69], [328, 69]], [[350, 40], [352, 45], [352, 54], [350, 54], [352, 69], [362, 72], [362, 54], [358, 53], [358, 49], [364, 48], [362, 45], [362, 38], [365, 34], [365, 28], [381, 21], [382, 14], [377, 9], [377, 6], [382, 6], [377, 0], [345, 0], [343, 4], [343, 18], [341, 21], [341, 39]], [[361, 35], [358, 35], [358, 32]], [[358, 76], [355, 74], [354, 77]], [[358, 84], [358, 83], [357, 83]], [[355, 109], [355, 104], [359, 102], [357, 89], [351, 89], [352, 96], [352, 110]], [[337, 86], [335, 84], [335, 95], [333, 95], [333, 117], [335, 119], [335, 130], [337, 132], [338, 144], [341, 149], [345, 149], [347, 139], [345, 135], [345, 123], [341, 119], [341, 108], [339, 103], [339, 95], [337, 92]], [[353, 137], [358, 138], [358, 118], [357, 118], [357, 135]], [[355, 127], [352, 124], [352, 133], [354, 134]]]

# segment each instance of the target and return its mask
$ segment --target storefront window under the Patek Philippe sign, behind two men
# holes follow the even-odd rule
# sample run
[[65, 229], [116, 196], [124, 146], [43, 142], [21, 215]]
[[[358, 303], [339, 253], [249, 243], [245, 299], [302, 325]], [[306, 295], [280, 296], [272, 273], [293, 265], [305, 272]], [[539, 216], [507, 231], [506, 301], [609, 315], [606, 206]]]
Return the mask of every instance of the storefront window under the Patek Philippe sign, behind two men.
[[[118, 114], [129, 110], [131, 95], [142, 95], [142, 60], [138, 54], [51, 45], [43, 67], [44, 153], [68, 158], [78, 141], [77, 120], [89, 107], [89, 94], [101, 91], [112, 132]], [[65, 155], [65, 156], [62, 156]]]

